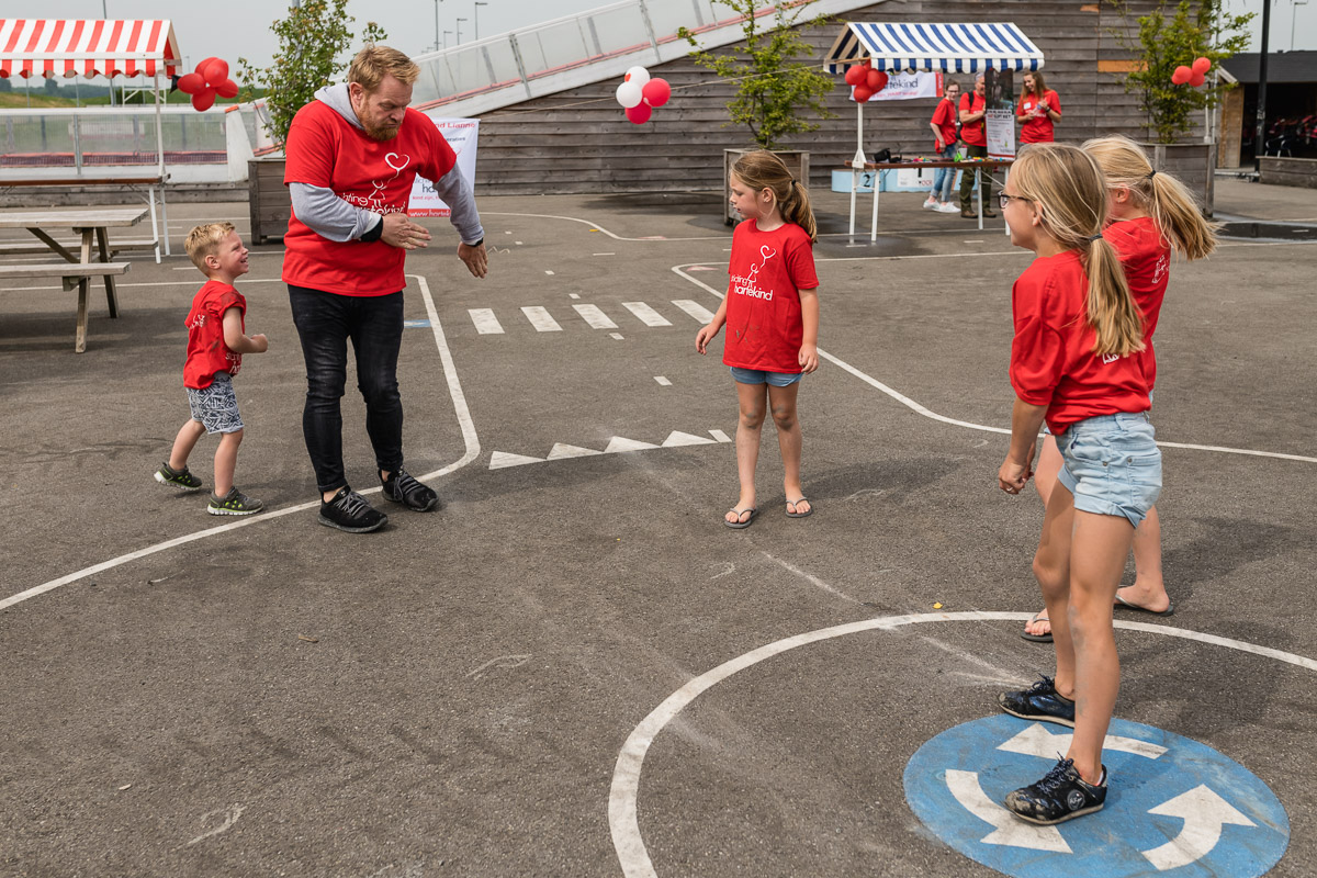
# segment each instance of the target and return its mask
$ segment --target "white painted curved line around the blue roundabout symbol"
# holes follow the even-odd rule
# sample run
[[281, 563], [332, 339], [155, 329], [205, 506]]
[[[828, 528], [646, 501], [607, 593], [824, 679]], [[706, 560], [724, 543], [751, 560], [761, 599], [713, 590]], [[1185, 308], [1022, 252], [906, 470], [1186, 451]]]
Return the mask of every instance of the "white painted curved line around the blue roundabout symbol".
[[[640, 836], [640, 820], [636, 813], [636, 799], [640, 791], [640, 770], [644, 766], [645, 754], [649, 752], [649, 745], [653, 744], [655, 737], [658, 736], [664, 727], [666, 727], [668, 723], [670, 723], [672, 719], [682, 711], [682, 708], [695, 700], [702, 692], [712, 688], [738, 671], [757, 665], [765, 658], [772, 658], [773, 656], [778, 656], [792, 649], [797, 649], [798, 646], [814, 644], [820, 640], [855, 634], [863, 631], [894, 629], [902, 625], [918, 625], [923, 623], [1027, 621], [1031, 617], [1031, 613], [1021, 612], [968, 611], [955, 613], [911, 613], [906, 616], [865, 619], [863, 621], [847, 623], [844, 625], [820, 628], [818, 631], [795, 634], [793, 637], [784, 637], [782, 640], [766, 644], [759, 649], [726, 661], [718, 667], [705, 671], [699, 677], [689, 681], [685, 686], [664, 699], [662, 704], [656, 707], [649, 716], [641, 720], [640, 725], [637, 725], [627, 737], [626, 744], [622, 745], [622, 753], [618, 754], [618, 763], [612, 770], [612, 787], [608, 792], [608, 828], [612, 833], [612, 846], [618, 853], [618, 861], [622, 865], [623, 874], [627, 875], [627, 878], [657, 878], [657, 873], [649, 860], [649, 853], [645, 850], [644, 839]], [[1285, 653], [1279, 649], [1271, 649], [1270, 646], [1258, 646], [1242, 640], [1231, 640], [1229, 637], [1217, 637], [1216, 634], [1204, 634], [1196, 631], [1167, 628], [1164, 625], [1151, 625], [1148, 623], [1139, 621], [1115, 620], [1113, 624], [1115, 628], [1154, 634], [1168, 634], [1171, 637], [1196, 640], [1205, 644], [1213, 644], [1216, 646], [1225, 646], [1227, 649], [1238, 649], [1241, 652], [1275, 658], [1306, 670], [1317, 671], [1317, 661], [1312, 658], [1296, 656], [1295, 653]]]

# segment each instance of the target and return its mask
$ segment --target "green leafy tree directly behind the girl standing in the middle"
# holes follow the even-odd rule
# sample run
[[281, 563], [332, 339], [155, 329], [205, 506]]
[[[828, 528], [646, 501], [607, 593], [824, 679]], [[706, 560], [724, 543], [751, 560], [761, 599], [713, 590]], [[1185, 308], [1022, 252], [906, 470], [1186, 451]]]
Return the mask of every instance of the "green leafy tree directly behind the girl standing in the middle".
[[[793, 30], [797, 25], [819, 26], [823, 17], [799, 21], [806, 8], [815, 0], [799, 4], [781, 3], [773, 13], [773, 26], [764, 28], [759, 12], [773, 0], [719, 0], [741, 16], [745, 46], [730, 53], [691, 53], [697, 65], [711, 70], [723, 79], [738, 80], [736, 97], [727, 104], [728, 125], [745, 125], [755, 142], [763, 149], [777, 149], [789, 134], [813, 132], [819, 122], [832, 118], [823, 97], [832, 91], [832, 79], [817, 67], [795, 61], [814, 53]], [[788, 11], [788, 7], [792, 7]], [[677, 34], [691, 46], [699, 47], [695, 36], [686, 28]]]

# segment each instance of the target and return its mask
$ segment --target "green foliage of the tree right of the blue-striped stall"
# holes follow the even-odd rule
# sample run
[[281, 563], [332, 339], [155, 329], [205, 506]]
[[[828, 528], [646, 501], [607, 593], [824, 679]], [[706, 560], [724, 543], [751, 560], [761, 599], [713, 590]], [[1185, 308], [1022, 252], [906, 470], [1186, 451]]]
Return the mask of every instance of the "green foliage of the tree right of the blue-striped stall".
[[1222, 0], [1180, 0], [1169, 17], [1158, 8], [1131, 24], [1127, 3], [1106, 1], [1126, 24], [1125, 29], [1112, 30], [1112, 36], [1142, 62], [1125, 75], [1125, 91], [1139, 95], [1139, 107], [1147, 113], [1144, 126], [1152, 140], [1175, 143], [1192, 130], [1195, 112], [1216, 107], [1221, 93], [1231, 87], [1210, 79], [1198, 88], [1176, 86], [1171, 82], [1175, 68], [1191, 66], [1195, 58], [1209, 58], [1216, 66], [1247, 49], [1243, 28], [1254, 13], [1227, 16]]

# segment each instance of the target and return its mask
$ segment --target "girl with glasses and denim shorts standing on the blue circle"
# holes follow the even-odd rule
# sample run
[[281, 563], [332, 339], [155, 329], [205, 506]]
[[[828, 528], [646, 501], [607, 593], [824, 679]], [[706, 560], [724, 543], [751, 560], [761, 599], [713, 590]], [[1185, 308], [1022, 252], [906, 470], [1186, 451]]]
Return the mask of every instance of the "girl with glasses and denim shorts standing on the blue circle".
[[1106, 800], [1102, 742], [1121, 683], [1112, 607], [1134, 529], [1162, 490], [1139, 355], [1143, 317], [1102, 237], [1106, 199], [1093, 157], [1059, 143], [1021, 154], [1001, 196], [1011, 244], [1038, 258], [1011, 290], [1017, 399], [998, 486], [1023, 490], [1044, 417], [1062, 454], [1034, 554], [1056, 677], [997, 698], [1008, 713], [1075, 729], [1047, 775], [1006, 796], [1015, 816], [1040, 824], [1092, 813]]

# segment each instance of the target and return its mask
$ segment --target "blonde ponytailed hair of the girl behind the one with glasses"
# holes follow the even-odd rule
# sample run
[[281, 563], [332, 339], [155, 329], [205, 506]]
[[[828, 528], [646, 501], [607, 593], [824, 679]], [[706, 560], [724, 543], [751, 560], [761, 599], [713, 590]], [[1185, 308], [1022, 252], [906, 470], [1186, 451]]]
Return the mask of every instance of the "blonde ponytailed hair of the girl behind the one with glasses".
[[1134, 203], [1152, 217], [1168, 247], [1191, 262], [1217, 249], [1221, 226], [1202, 219], [1184, 183], [1164, 171], [1154, 171], [1138, 143], [1113, 134], [1090, 140], [1083, 149], [1097, 159], [1108, 188], [1123, 186], [1130, 191]]

